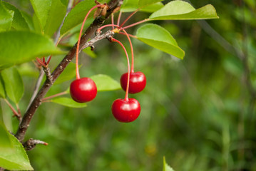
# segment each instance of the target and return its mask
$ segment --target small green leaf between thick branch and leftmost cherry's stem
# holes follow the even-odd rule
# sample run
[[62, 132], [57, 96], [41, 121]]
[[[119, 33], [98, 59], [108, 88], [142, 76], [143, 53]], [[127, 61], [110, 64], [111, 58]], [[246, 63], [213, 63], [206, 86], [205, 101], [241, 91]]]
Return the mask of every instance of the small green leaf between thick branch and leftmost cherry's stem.
[[70, 81], [75, 76], [76, 76], [76, 64], [69, 63], [68, 66], [64, 69], [63, 73], [61, 73], [61, 75], [57, 78], [54, 84]]

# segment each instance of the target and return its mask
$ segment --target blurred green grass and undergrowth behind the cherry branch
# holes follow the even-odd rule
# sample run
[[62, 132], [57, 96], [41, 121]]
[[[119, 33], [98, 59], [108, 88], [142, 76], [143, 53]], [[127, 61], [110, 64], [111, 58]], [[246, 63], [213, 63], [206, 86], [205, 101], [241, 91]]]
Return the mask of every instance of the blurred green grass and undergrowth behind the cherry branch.
[[[28, 0], [10, 3], [33, 13]], [[220, 19], [156, 21], [183, 48], [184, 60], [132, 40], [135, 71], [147, 77], [145, 90], [130, 95], [140, 102], [139, 118], [133, 123], [113, 118], [111, 104], [124, 98], [123, 90], [98, 93], [87, 108], [43, 103], [26, 134], [49, 144], [28, 152], [35, 170], [162, 170], [163, 156], [176, 171], [256, 170], [256, 2], [191, 3], [196, 9], [213, 4]], [[138, 12], [129, 23], [147, 16]], [[135, 34], [136, 28], [127, 31]], [[115, 37], [130, 51], [126, 36]], [[103, 40], [95, 53], [96, 58], [81, 55], [81, 76], [103, 73], [118, 81], [126, 72], [117, 43]], [[52, 69], [62, 57], [53, 58]], [[39, 73], [33, 63], [19, 70], [26, 88], [24, 112]], [[53, 86], [48, 95], [70, 83]], [[16, 131], [18, 121], [3, 101], [2, 108], [6, 126]]]

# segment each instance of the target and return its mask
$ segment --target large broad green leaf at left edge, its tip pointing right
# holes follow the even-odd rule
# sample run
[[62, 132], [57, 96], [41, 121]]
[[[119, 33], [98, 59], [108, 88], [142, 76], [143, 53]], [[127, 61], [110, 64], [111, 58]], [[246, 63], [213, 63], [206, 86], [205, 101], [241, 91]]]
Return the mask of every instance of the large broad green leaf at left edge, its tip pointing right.
[[39, 56], [61, 54], [47, 36], [29, 31], [0, 32], [0, 70]]

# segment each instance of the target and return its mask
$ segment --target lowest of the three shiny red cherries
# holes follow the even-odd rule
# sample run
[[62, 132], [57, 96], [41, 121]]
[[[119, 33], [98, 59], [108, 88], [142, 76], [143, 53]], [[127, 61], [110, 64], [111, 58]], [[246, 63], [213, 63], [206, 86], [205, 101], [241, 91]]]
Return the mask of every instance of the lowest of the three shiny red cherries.
[[140, 115], [140, 103], [134, 98], [118, 98], [112, 104], [113, 116], [121, 123], [130, 123]]

